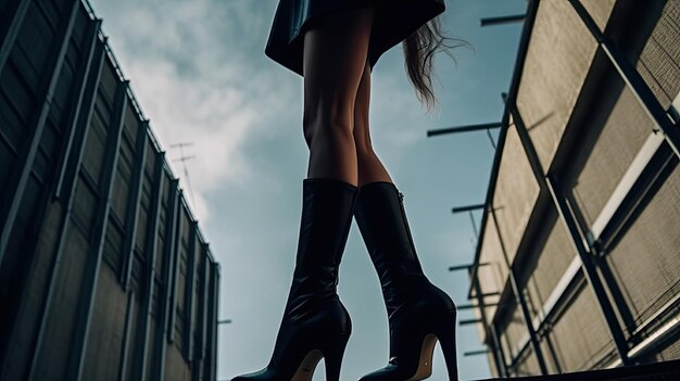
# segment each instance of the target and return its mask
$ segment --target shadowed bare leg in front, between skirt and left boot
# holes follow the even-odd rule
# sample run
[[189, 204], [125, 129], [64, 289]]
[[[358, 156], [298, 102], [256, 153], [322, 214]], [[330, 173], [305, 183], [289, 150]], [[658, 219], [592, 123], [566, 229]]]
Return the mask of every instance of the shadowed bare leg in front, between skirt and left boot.
[[368, 54], [374, 7], [325, 16], [304, 36], [307, 178], [357, 185], [354, 103]]

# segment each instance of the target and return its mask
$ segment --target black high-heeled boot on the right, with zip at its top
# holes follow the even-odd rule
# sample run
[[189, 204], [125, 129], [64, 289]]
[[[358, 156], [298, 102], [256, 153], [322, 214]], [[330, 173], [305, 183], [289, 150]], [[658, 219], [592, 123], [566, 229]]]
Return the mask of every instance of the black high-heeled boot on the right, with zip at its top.
[[391, 182], [360, 189], [354, 217], [370, 255], [388, 312], [390, 359], [362, 381], [424, 380], [432, 371], [432, 351], [441, 344], [449, 379], [457, 380], [456, 308], [423, 274], [408, 229], [403, 194]]

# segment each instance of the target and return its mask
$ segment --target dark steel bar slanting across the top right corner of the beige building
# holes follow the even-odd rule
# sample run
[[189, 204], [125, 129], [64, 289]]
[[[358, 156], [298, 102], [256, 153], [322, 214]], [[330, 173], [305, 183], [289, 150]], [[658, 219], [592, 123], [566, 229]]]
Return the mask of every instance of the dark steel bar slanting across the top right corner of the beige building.
[[609, 58], [609, 61], [621, 76], [621, 79], [624, 79], [630, 91], [635, 96], [642, 109], [654, 122], [656, 127], [664, 134], [664, 138], [666, 138], [666, 141], [676, 155], [680, 157], [680, 128], [673, 124], [670, 115], [666, 113], [662, 104], [654, 96], [654, 92], [650, 89], [647, 84], [644, 81], [644, 78], [642, 78], [635, 67], [600, 30], [597, 24], [588, 13], [583, 4], [581, 4], [579, 0], [569, 0], [569, 2], [576, 10], [576, 13], [578, 13], [588, 30], [590, 30], [591, 35], [595, 38], [600, 48]]

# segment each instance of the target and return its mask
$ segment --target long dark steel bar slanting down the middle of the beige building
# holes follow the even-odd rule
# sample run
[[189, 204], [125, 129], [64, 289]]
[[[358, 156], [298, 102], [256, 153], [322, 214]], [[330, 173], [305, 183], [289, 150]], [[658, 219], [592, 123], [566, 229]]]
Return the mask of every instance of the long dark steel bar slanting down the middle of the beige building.
[[558, 212], [559, 219], [563, 221], [565, 227], [567, 228], [567, 232], [569, 236], [569, 240], [574, 244], [579, 258], [581, 259], [581, 266], [583, 267], [583, 272], [585, 274], [585, 278], [588, 279], [588, 283], [591, 285], [592, 291], [595, 293], [595, 297], [599, 302], [602, 314], [604, 315], [605, 321], [607, 323], [607, 328], [609, 329], [609, 333], [612, 334], [612, 339], [614, 340], [614, 344], [616, 346], [616, 351], [618, 352], [621, 361], [625, 365], [629, 365], [628, 360], [628, 348], [626, 344], [626, 339], [621, 331], [621, 327], [616, 320], [616, 315], [614, 313], [614, 307], [612, 306], [607, 294], [604, 290], [604, 287], [597, 276], [594, 264], [592, 263], [592, 258], [589, 250], [583, 246], [583, 238], [578, 229], [578, 225], [574, 218], [574, 215], [570, 212], [570, 207], [568, 206], [568, 200], [562, 194], [557, 193], [554, 188], [553, 180], [550, 177], [546, 177], [543, 166], [539, 160], [539, 155], [533, 147], [533, 142], [529, 136], [527, 126], [517, 110], [516, 104], [509, 105], [511, 112], [513, 113], [513, 120], [515, 122], [515, 127], [517, 129], [517, 135], [519, 136], [519, 140], [521, 141], [521, 145], [525, 149], [525, 154], [529, 161], [531, 166], [531, 170], [533, 172], [537, 181], [541, 188], [541, 192], [550, 192], [555, 208]]

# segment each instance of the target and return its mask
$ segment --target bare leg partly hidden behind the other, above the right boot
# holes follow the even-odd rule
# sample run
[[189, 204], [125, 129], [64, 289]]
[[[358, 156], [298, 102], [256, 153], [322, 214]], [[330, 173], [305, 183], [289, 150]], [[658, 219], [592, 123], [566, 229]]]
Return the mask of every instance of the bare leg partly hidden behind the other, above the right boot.
[[366, 62], [354, 104], [354, 142], [358, 160], [360, 187], [375, 181], [392, 182], [392, 178], [376, 155], [370, 143], [368, 109], [370, 101], [370, 66]]

